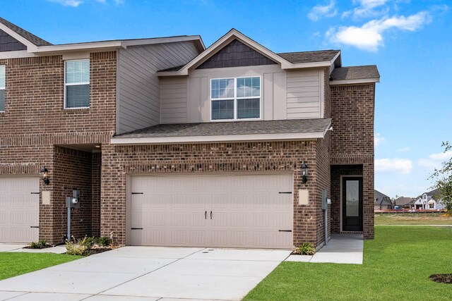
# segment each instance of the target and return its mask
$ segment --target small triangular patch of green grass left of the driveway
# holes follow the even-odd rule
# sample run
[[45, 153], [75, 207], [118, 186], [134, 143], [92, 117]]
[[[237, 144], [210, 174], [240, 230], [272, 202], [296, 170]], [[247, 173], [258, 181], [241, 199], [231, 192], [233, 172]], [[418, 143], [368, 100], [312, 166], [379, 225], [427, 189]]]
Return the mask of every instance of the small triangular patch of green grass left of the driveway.
[[0, 253], [0, 280], [71, 262], [80, 256], [50, 253]]

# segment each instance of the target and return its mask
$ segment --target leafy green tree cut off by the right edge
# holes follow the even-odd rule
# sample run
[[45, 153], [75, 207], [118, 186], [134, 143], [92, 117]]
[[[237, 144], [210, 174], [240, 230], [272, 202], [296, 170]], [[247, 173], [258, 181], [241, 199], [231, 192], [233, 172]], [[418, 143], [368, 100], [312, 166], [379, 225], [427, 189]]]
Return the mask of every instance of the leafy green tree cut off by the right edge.
[[[443, 142], [441, 147], [444, 147], [445, 153], [452, 150], [452, 144], [448, 141]], [[429, 178], [435, 181], [432, 188], [438, 188], [436, 197], [442, 199], [446, 205], [448, 215], [452, 216], [452, 156], [448, 161], [442, 163], [441, 168], [435, 168]]]

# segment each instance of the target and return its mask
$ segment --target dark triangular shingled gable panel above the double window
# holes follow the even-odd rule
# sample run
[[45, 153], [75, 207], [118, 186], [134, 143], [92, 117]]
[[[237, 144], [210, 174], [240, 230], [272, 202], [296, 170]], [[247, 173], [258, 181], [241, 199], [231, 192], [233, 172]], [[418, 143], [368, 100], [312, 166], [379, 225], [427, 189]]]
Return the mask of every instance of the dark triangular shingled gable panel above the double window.
[[273, 64], [276, 64], [276, 62], [272, 59], [269, 59], [267, 56], [260, 54], [254, 49], [251, 49], [251, 47], [240, 42], [238, 39], [233, 39], [232, 42], [220, 49], [220, 51], [218, 51], [213, 56], [210, 56], [209, 59], [201, 63], [201, 65], [198, 66], [197, 69]]

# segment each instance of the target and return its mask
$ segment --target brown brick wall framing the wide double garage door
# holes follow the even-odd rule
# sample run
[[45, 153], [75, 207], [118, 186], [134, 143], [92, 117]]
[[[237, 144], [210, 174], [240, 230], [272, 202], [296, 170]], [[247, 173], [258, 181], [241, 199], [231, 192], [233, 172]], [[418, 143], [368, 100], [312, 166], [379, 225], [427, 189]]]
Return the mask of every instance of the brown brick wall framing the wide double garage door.
[[[102, 146], [101, 233], [126, 242], [126, 175], [128, 173], [218, 173], [237, 171], [294, 171], [294, 244], [318, 243], [320, 186], [316, 152], [328, 164], [325, 145], [317, 142], [231, 142], [196, 145]], [[301, 183], [299, 166], [309, 166], [309, 180]], [[329, 169], [326, 168], [327, 174]], [[326, 178], [321, 185], [328, 188]], [[309, 205], [299, 206], [298, 190], [309, 189]], [[321, 193], [321, 192], [320, 192]]]

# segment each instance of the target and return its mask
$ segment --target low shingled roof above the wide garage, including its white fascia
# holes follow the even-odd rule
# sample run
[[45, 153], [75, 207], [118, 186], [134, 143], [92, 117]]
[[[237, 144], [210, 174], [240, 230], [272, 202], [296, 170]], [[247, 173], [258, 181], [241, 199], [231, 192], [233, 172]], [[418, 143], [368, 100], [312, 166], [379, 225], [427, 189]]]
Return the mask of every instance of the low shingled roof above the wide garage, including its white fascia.
[[316, 139], [323, 137], [330, 125], [331, 118], [160, 124], [117, 135], [112, 143]]

